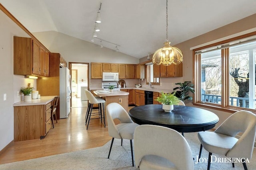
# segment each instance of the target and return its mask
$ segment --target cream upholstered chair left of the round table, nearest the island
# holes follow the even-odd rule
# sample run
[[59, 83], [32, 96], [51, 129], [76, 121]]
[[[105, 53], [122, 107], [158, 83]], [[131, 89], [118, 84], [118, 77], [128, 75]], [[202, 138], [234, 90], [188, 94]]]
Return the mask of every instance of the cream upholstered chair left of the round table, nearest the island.
[[[138, 124], [133, 123], [132, 119], [126, 112], [126, 110], [118, 103], [110, 103], [106, 107], [107, 111], [107, 122], [108, 122], [108, 134], [112, 137], [112, 142], [110, 150], [108, 153], [108, 158], [112, 149], [114, 139], [129, 139], [132, 152], [132, 166], [134, 166], [133, 161], [133, 151], [132, 151], [132, 139], [135, 128]], [[115, 125], [114, 119], [119, 119], [120, 123]], [[121, 140], [122, 141], [122, 140]], [[122, 142], [121, 142], [122, 145]]]

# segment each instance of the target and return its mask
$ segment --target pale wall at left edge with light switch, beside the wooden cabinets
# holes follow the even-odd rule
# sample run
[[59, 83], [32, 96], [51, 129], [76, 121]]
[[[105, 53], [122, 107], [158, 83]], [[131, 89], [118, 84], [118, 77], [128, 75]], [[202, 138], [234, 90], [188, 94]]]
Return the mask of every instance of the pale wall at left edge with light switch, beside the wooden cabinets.
[[[14, 140], [13, 104], [20, 101], [17, 92], [35, 80], [13, 74], [13, 36], [29, 37], [16, 23], [0, 10], [0, 150]], [[6, 94], [6, 101], [3, 96]]]

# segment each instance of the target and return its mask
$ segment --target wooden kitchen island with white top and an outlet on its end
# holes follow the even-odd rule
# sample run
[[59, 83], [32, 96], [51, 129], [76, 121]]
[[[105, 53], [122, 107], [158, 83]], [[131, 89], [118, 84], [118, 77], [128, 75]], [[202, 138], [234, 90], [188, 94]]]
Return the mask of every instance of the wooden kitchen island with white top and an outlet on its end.
[[[106, 90], [95, 90], [94, 93], [97, 96], [102, 97], [106, 101], [106, 106], [110, 103], [118, 103], [122, 107], [124, 107], [124, 109], [128, 113], [128, 95], [129, 95], [129, 92], [123, 92], [123, 91], [120, 91], [120, 90], [113, 90], [112, 92], [106, 91]], [[106, 109], [105, 109], [104, 116], [105, 116], [106, 126], [108, 126], [107, 116], [106, 116]]]

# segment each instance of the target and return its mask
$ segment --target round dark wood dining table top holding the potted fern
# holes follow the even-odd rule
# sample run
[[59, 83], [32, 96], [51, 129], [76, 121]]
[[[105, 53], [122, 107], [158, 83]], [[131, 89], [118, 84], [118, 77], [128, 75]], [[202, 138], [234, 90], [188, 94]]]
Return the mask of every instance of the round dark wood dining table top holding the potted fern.
[[219, 121], [218, 116], [211, 111], [177, 105], [171, 112], [165, 112], [161, 104], [137, 106], [130, 109], [129, 115], [139, 125], [160, 125], [182, 133], [206, 131]]

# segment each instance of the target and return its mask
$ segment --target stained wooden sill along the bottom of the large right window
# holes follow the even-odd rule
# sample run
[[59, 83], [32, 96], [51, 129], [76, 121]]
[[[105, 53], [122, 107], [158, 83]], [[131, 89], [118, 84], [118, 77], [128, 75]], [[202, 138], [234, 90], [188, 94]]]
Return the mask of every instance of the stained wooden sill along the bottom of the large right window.
[[235, 113], [236, 111], [239, 110], [247, 110], [247, 111], [251, 111], [252, 113], [256, 114], [256, 110], [255, 109], [248, 109], [248, 108], [234, 108], [234, 107], [221, 107], [218, 105], [210, 105], [210, 104], [203, 104], [203, 103], [193, 103], [194, 106], [200, 106], [200, 107], [205, 107], [205, 108], [209, 108], [209, 109], [215, 109], [215, 110], [219, 110], [219, 111], [225, 111], [228, 113]]

